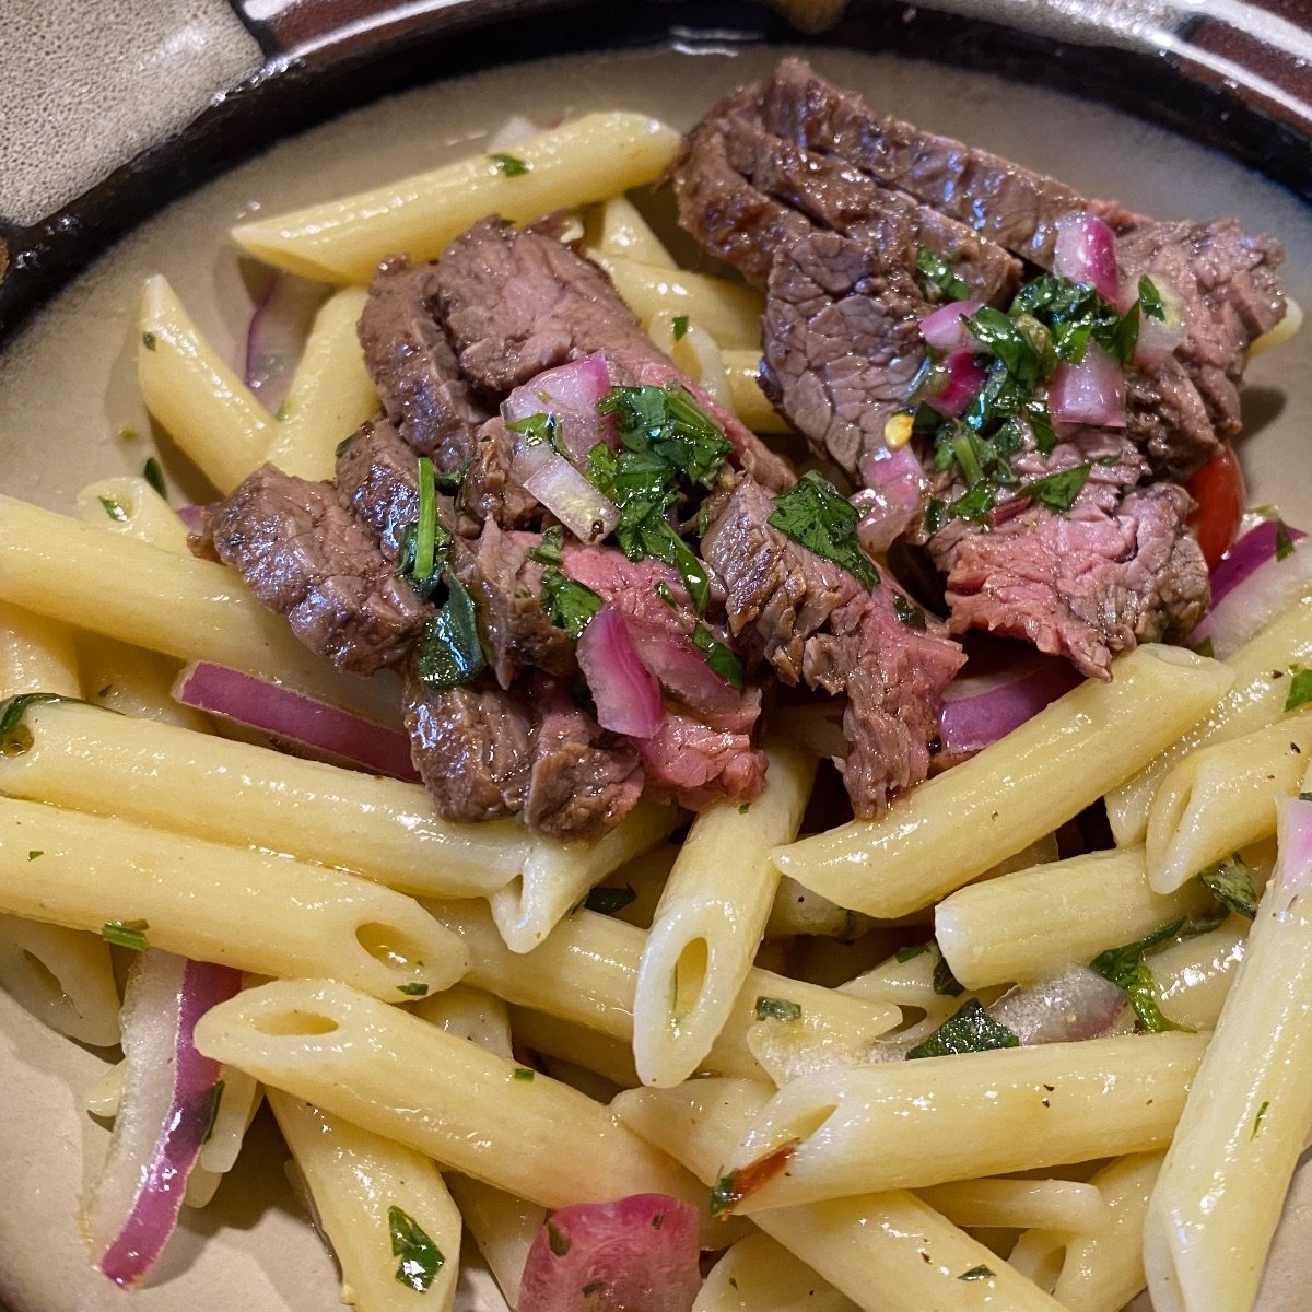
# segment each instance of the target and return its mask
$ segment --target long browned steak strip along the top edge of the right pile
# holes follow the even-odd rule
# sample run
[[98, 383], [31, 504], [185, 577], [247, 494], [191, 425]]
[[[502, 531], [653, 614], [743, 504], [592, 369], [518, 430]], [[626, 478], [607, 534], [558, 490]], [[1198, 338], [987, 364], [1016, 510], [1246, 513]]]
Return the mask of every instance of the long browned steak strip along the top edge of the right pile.
[[774, 135], [842, 160], [1044, 269], [1052, 264], [1052, 224], [1089, 205], [1055, 178], [876, 114], [803, 59], [779, 62], [761, 96], [761, 118]]

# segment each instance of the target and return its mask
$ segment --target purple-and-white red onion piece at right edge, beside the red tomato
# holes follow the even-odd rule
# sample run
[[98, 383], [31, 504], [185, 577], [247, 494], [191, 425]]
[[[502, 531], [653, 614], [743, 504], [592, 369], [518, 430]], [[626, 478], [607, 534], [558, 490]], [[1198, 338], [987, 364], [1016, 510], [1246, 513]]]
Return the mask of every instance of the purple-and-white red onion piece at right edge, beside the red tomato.
[[[1277, 560], [1279, 531], [1279, 525], [1263, 520], [1216, 563], [1212, 606], [1190, 635], [1191, 644], [1210, 640], [1214, 653], [1224, 660], [1312, 592], [1312, 547], [1295, 547]], [[1299, 529], [1287, 533], [1292, 543], [1307, 537]]]

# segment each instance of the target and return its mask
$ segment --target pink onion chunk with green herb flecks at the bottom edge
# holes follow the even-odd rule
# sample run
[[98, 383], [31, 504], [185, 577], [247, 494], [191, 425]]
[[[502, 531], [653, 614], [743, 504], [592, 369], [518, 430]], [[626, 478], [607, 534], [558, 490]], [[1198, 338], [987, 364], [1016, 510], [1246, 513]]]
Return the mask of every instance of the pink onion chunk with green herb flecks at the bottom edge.
[[702, 1287], [697, 1210], [668, 1194], [562, 1207], [523, 1263], [523, 1312], [690, 1312]]

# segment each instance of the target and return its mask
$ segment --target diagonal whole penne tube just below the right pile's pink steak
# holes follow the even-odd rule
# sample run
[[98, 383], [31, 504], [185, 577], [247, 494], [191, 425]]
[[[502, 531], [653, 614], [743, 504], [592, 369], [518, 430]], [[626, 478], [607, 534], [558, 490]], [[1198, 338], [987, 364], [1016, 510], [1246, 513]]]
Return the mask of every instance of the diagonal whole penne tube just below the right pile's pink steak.
[[[1312, 638], [1312, 625], [1308, 626]], [[903, 916], [1051, 833], [1204, 715], [1233, 674], [1148, 644], [1120, 656], [970, 761], [854, 820], [775, 851], [779, 870], [870, 916]]]

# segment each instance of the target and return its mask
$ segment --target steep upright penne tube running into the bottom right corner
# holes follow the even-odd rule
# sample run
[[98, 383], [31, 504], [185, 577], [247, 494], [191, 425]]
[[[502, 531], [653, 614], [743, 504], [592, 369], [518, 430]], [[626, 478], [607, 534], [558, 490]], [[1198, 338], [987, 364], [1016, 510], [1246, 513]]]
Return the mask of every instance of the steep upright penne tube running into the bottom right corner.
[[1252, 1308], [1312, 1132], [1312, 803], [1281, 803], [1277, 844], [1275, 874], [1148, 1204], [1144, 1265], [1158, 1312]]

